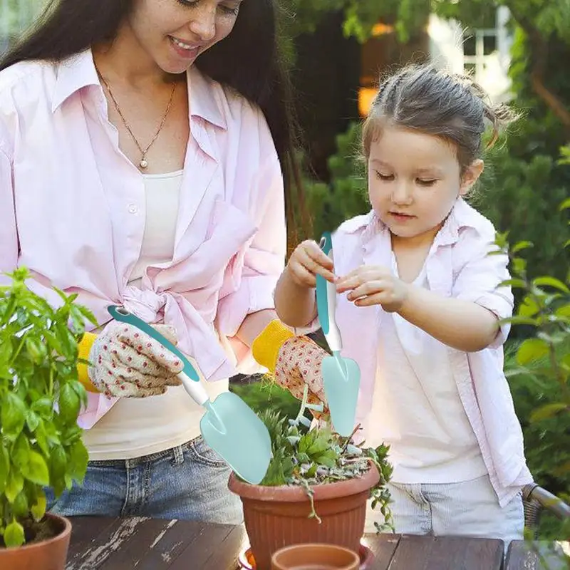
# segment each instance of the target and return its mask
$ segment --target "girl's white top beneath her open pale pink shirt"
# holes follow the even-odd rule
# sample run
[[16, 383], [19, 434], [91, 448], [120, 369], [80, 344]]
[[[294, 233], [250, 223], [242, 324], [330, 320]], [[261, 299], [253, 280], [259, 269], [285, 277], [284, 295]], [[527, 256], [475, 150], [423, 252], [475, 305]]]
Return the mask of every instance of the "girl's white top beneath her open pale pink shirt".
[[[393, 258], [392, 269], [398, 275]], [[425, 266], [415, 280], [427, 286]], [[455, 483], [487, 473], [447, 347], [398, 314], [380, 322], [366, 445], [390, 445], [393, 482]]]

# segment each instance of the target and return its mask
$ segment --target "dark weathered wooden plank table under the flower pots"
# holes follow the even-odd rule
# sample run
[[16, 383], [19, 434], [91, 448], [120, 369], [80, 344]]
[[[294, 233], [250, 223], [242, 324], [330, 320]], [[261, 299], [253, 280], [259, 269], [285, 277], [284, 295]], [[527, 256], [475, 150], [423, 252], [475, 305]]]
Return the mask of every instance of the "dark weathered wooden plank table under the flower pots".
[[[133, 517], [74, 517], [66, 570], [237, 570], [248, 546], [242, 525]], [[524, 543], [367, 534], [368, 570], [539, 570]], [[559, 570], [563, 566], [551, 566]]]

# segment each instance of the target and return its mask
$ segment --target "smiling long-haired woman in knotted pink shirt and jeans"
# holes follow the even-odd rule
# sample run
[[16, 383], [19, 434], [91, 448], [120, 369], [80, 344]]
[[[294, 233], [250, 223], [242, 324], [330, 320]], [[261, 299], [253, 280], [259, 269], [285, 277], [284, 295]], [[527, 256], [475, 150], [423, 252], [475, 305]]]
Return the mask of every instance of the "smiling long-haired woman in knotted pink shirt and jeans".
[[239, 523], [177, 365], [133, 330], [103, 357], [123, 304], [214, 398], [280, 328], [294, 123], [273, 1], [53, 1], [0, 70], [0, 271], [27, 266], [100, 323], [81, 346], [87, 475], [48, 508]]

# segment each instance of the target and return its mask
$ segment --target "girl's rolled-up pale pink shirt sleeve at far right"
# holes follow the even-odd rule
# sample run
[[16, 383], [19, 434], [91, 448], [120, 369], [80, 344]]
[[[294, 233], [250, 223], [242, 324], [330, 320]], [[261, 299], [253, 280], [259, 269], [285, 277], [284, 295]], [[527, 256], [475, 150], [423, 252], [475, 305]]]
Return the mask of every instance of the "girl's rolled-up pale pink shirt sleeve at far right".
[[[510, 286], [500, 285], [510, 279], [507, 254], [497, 253], [494, 233], [484, 235], [475, 230], [464, 236], [464, 247], [470, 252], [455, 278], [452, 296], [472, 301], [489, 309], [499, 319], [512, 316], [514, 297]], [[511, 325], [502, 323], [490, 348], [497, 348], [507, 340]]]

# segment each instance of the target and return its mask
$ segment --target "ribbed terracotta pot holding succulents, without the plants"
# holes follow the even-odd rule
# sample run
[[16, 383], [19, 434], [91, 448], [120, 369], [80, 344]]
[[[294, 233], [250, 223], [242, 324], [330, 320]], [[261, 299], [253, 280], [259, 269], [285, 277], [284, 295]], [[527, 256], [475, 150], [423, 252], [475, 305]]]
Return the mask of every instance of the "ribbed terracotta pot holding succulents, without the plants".
[[319, 524], [317, 519], [309, 519], [311, 502], [302, 487], [252, 485], [232, 473], [228, 487], [242, 499], [244, 524], [257, 570], [269, 570], [271, 555], [291, 544], [336, 544], [358, 552], [366, 501], [379, 480], [380, 474], [371, 464], [361, 477], [312, 487], [316, 514], [322, 521]]

